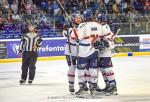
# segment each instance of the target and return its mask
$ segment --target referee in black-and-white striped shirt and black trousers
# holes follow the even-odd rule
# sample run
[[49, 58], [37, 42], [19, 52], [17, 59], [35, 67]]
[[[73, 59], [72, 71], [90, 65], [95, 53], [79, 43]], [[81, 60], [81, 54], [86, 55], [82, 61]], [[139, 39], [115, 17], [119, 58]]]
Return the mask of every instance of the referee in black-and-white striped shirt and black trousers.
[[41, 36], [35, 32], [35, 27], [33, 25], [29, 25], [28, 30], [29, 32], [22, 36], [19, 46], [19, 54], [22, 55], [20, 84], [24, 84], [26, 82], [28, 71], [28, 83], [32, 84], [35, 76], [35, 64], [38, 57], [37, 49], [42, 45]]

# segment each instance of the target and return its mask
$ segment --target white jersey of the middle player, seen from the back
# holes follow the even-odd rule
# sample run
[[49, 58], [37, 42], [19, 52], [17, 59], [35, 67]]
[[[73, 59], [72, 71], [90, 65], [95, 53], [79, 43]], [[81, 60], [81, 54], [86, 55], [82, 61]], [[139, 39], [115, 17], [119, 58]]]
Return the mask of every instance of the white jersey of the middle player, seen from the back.
[[93, 42], [99, 36], [105, 36], [110, 30], [103, 28], [97, 22], [81, 23], [77, 29], [79, 39], [79, 57], [88, 57], [93, 54], [96, 49], [92, 46]]

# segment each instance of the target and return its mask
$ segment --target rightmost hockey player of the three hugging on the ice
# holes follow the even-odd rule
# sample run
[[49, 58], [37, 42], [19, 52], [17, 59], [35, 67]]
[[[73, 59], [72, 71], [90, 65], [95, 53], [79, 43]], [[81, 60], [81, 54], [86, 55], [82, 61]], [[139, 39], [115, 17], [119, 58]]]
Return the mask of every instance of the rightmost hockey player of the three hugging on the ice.
[[[109, 25], [107, 25], [107, 17], [105, 14], [98, 15], [98, 22], [103, 28], [110, 30]], [[112, 70], [112, 60], [111, 60], [111, 49], [114, 48], [113, 35], [107, 35], [102, 38], [104, 40], [106, 47], [99, 51], [99, 67], [104, 78], [106, 87], [103, 89], [106, 95], [117, 94], [116, 81], [114, 72]]]

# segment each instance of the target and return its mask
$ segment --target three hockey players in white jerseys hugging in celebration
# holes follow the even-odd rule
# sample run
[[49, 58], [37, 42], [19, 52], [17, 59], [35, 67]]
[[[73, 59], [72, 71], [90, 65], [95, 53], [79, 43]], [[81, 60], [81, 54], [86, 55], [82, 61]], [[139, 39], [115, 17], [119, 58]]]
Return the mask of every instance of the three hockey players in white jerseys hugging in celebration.
[[[91, 95], [117, 95], [111, 60], [115, 34], [107, 24], [106, 15], [99, 14], [95, 19], [89, 9], [83, 14], [73, 13], [71, 22], [64, 26], [63, 35], [67, 39], [65, 55], [69, 66], [69, 91], [76, 95], [84, 95], [88, 91]], [[79, 84], [76, 92], [75, 71]], [[106, 85], [104, 89], [98, 85], [99, 71]]]

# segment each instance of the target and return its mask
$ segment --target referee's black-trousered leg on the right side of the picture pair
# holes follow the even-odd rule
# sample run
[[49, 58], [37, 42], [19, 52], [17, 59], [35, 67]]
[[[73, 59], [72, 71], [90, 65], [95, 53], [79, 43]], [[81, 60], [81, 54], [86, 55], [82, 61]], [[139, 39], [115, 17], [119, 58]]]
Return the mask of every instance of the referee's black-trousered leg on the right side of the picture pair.
[[32, 83], [35, 77], [35, 70], [36, 70], [35, 64], [37, 62], [37, 57], [38, 57], [37, 52], [31, 53], [30, 60], [29, 60], [30, 61], [29, 62], [29, 80], [28, 80], [29, 84]]

